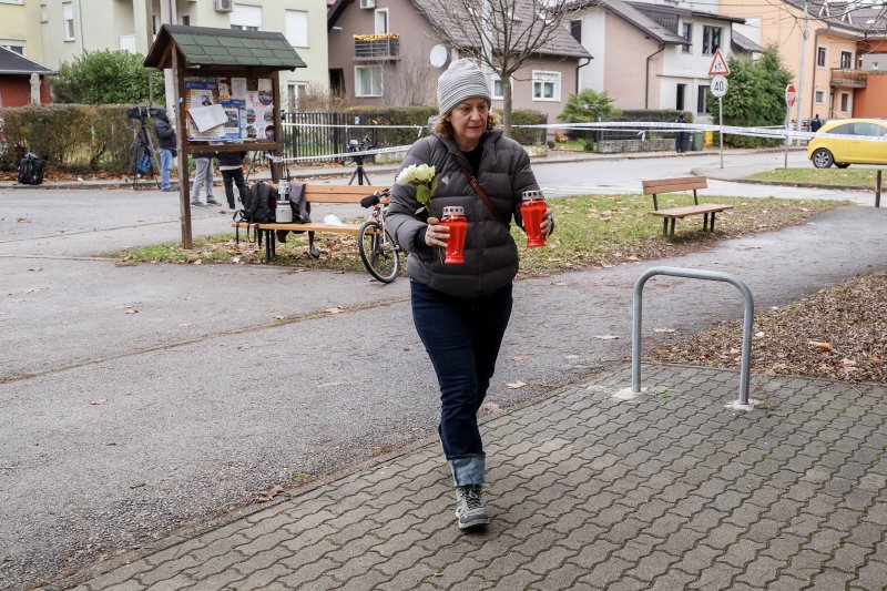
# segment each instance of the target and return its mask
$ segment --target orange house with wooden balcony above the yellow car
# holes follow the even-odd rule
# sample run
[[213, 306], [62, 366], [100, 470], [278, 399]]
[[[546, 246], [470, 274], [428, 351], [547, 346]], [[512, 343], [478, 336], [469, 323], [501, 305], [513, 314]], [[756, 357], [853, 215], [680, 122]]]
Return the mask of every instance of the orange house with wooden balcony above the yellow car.
[[887, 51], [883, 8], [781, 0], [765, 7], [731, 3], [730, 12], [746, 17], [746, 34], [758, 43], [775, 44], [783, 63], [795, 73], [799, 96], [794, 118], [887, 116], [887, 84], [881, 77], [869, 77], [865, 68], [868, 63], [875, 70], [878, 59], [873, 55]]

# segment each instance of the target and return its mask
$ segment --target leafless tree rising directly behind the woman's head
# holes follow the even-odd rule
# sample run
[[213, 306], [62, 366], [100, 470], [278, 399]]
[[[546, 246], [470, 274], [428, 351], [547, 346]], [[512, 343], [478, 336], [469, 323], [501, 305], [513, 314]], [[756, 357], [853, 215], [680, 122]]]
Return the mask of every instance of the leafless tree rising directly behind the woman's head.
[[502, 124], [511, 130], [511, 77], [529, 59], [551, 54], [564, 27], [597, 2], [577, 0], [419, 0], [437, 38], [462, 57], [488, 67], [502, 81]]

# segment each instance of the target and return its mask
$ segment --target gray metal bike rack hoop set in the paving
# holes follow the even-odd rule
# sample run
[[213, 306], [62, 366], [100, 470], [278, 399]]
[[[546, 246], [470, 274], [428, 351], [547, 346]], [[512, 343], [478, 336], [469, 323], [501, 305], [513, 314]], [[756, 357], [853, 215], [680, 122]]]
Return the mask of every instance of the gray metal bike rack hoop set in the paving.
[[646, 281], [654, 275], [671, 275], [690, 279], [708, 279], [726, 282], [736, 286], [745, 299], [745, 313], [742, 328], [742, 364], [740, 366], [740, 404], [748, 404], [748, 377], [752, 361], [752, 322], [755, 314], [755, 303], [752, 292], [742, 279], [730, 273], [720, 271], [702, 271], [679, 267], [652, 267], [645, 271], [634, 284], [634, 317], [631, 328], [631, 389], [641, 391], [641, 313], [643, 308], [642, 295]]

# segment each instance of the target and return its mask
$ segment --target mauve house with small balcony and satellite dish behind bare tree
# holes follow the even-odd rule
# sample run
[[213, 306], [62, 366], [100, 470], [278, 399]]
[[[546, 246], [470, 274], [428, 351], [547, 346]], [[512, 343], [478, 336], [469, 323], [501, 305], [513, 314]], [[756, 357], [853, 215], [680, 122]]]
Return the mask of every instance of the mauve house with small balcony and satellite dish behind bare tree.
[[[458, 58], [435, 30], [436, 0], [337, 0], [329, 10], [330, 88], [350, 104], [435, 104], [437, 79]], [[521, 10], [532, 10], [521, 0]], [[429, 14], [426, 17], [426, 14]], [[512, 108], [532, 109], [553, 121], [577, 92], [577, 71], [591, 55], [560, 29], [512, 77]], [[493, 108], [502, 108], [501, 81], [492, 74]]]

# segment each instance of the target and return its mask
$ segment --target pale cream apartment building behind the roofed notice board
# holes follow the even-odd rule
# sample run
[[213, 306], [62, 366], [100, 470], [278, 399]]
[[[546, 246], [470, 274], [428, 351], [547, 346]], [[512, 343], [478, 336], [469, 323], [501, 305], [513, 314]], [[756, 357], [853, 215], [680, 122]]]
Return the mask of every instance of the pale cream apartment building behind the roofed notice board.
[[[3, 21], [12, 9], [18, 20]], [[327, 0], [0, 0], [0, 35], [28, 32], [27, 54], [58, 69], [86, 51], [146, 54], [163, 22], [283, 32], [307, 64], [279, 74], [284, 109], [295, 109], [310, 86], [328, 89], [326, 9]]]

